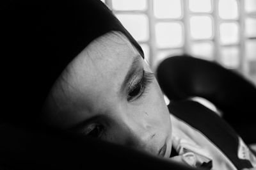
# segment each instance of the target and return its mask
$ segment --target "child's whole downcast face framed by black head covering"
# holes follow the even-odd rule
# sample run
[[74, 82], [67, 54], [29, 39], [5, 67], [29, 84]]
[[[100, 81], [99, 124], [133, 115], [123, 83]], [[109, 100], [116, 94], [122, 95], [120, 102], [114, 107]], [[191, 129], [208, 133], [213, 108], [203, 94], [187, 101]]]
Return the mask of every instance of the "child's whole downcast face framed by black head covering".
[[122, 33], [90, 43], [56, 81], [45, 110], [54, 127], [170, 155], [172, 127], [163, 94]]

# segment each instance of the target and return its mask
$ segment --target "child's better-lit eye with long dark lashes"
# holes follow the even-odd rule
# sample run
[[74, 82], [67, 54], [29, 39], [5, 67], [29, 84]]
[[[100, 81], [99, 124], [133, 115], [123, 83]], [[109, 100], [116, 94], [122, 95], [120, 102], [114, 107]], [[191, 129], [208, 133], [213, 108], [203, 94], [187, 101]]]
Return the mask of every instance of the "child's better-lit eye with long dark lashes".
[[[145, 70], [143, 70], [143, 75], [140, 81], [134, 83], [134, 85], [129, 87], [128, 97], [127, 97], [128, 102], [137, 100], [142, 95], [144, 95], [147, 92], [146, 89], [148, 88], [148, 85], [152, 82], [153, 79], [154, 79], [153, 73], [146, 72]], [[136, 91], [136, 90], [139, 90], [139, 91]], [[131, 95], [131, 93], [135, 93], [135, 94]]]

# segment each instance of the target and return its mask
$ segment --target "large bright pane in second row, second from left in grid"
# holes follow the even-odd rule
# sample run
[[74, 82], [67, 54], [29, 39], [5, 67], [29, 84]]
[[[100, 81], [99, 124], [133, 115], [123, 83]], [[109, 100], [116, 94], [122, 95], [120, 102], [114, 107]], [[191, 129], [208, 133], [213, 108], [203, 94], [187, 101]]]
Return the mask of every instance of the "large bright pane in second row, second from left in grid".
[[156, 43], [159, 48], [181, 47], [183, 45], [182, 26], [179, 23], [157, 23]]

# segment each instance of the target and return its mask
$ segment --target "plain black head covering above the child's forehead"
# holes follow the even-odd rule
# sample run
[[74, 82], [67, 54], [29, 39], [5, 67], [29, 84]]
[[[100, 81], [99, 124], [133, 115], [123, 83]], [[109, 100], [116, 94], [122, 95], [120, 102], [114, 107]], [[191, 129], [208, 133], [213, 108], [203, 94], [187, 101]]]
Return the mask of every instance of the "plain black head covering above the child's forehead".
[[99, 0], [1, 2], [0, 20], [7, 107], [1, 118], [15, 123], [38, 123], [54, 81], [95, 38], [121, 31], [143, 56], [140, 45]]

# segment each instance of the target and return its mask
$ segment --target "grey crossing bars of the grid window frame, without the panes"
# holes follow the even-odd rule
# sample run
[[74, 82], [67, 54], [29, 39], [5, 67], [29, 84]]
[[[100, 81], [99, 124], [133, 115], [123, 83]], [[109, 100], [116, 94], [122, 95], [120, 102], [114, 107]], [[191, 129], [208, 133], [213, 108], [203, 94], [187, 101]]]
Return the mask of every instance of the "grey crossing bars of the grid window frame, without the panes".
[[[190, 10], [189, 3], [191, 0], [180, 0], [181, 2], [181, 17], [179, 18], [157, 18], [154, 15], [154, 1], [157, 0], [146, 0], [146, 8], [144, 10], [115, 10], [112, 8], [112, 0], [105, 0], [105, 3], [109, 6], [113, 13], [132, 13], [132, 14], [144, 14], [148, 19], [148, 40], [139, 41], [138, 43], [148, 46], [148, 63], [152, 67], [152, 70], [155, 71], [157, 65], [161, 60], [164, 59], [163, 54], [166, 52], [166, 57], [179, 55], [179, 54], [190, 54], [193, 56], [193, 46], [195, 43], [208, 43], [211, 42], [213, 45], [213, 54], [209, 60], [216, 61], [221, 65], [225, 66], [228, 69], [234, 70], [235, 72], [241, 73], [244, 77], [254, 81], [256, 84], [256, 75], [252, 78], [250, 75], [250, 60], [247, 59], [248, 51], [246, 51], [246, 43], [249, 40], [255, 40], [256, 36], [246, 36], [246, 27], [245, 21], [248, 18], [256, 19], [256, 12], [246, 12], [244, 3], [248, 0], [234, 0], [237, 4], [237, 17], [233, 19], [223, 19], [220, 17], [219, 13], [219, 2], [220, 0], [210, 0], [211, 10], [207, 12], [195, 12]], [[210, 16], [212, 18], [212, 36], [202, 40], [196, 40], [191, 37], [189, 19], [194, 16]], [[180, 22], [182, 23], [182, 35], [183, 45], [181, 47], [168, 47], [168, 48], [159, 48], [156, 44], [156, 24], [160, 22]], [[226, 23], [236, 23], [238, 26], [238, 42], [236, 43], [221, 43], [220, 38], [220, 26], [221, 24]], [[237, 48], [239, 53], [239, 61], [235, 67], [228, 67], [223, 63], [223, 58], [226, 56], [221, 56], [223, 54], [222, 49], [225, 48]], [[168, 53], [169, 51], [169, 53]], [[225, 53], [225, 52], [224, 52]], [[161, 56], [161, 55], [162, 56]], [[168, 55], [170, 54], [170, 55]], [[159, 57], [160, 58], [157, 58]], [[256, 55], [256, 54], [255, 54]], [[195, 56], [196, 58], [202, 58], [202, 56]], [[206, 57], [207, 58], [207, 57]], [[233, 61], [231, 61], [233, 62]]]

